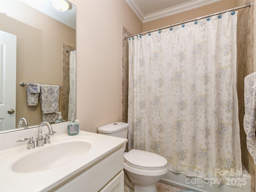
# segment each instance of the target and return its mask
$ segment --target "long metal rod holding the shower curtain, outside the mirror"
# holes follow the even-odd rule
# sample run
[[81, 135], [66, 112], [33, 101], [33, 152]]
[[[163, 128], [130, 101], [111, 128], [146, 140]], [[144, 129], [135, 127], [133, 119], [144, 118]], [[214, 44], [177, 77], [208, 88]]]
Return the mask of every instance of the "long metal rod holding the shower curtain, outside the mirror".
[[180, 22], [180, 23], [176, 23], [176, 24], [168, 25], [168, 26], [161, 27], [161, 28], [157, 28], [157, 29], [154, 29], [154, 30], [149, 30], [149, 31], [146, 31], [146, 32], [142, 32], [142, 33], [138, 33], [138, 34], [135, 34], [135, 35], [127, 36], [127, 37], [124, 37], [124, 39], [130, 38], [130, 37], [133, 37], [133, 36], [137, 36], [137, 35], [142, 35], [142, 34], [146, 34], [146, 33], [154, 32], [154, 31], [157, 31], [157, 30], [166, 29], [166, 28], [173, 27], [173, 26], [177, 26], [177, 25], [180, 25], [180, 24], [184, 24], [184, 23], [188, 23], [188, 22], [192, 22], [192, 21], [196, 21], [196, 20], [204, 19], [204, 18], [211, 17], [211, 16], [214, 16], [214, 15], [218, 15], [218, 14], [226, 13], [226, 12], [229, 12], [229, 11], [234, 11], [234, 10], [238, 10], [238, 9], [242, 9], [242, 8], [250, 7], [251, 5], [252, 5], [252, 3], [248, 3], [248, 4], [246, 4], [246, 5], [239, 6], [239, 7], [235, 7], [235, 8], [232, 8], [232, 9], [225, 10], [225, 11], [220, 11], [220, 12], [213, 13], [213, 14], [210, 14], [210, 15], [206, 15], [206, 16], [202, 16], [202, 17], [194, 18], [194, 19], [191, 19], [191, 20], [187, 20], [187, 21], [183, 21], [183, 22]]

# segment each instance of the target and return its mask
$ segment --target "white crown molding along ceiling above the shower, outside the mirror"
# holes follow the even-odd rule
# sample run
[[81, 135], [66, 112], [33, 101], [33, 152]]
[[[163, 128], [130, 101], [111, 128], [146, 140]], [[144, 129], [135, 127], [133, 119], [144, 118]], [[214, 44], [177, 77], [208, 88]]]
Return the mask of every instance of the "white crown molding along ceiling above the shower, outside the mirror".
[[195, 8], [199, 8], [202, 6], [206, 6], [208, 4], [212, 4], [221, 0], [192, 0], [190, 2], [180, 4], [178, 6], [174, 6], [171, 8], [167, 8], [164, 10], [160, 10], [158, 12], [154, 12], [152, 14], [144, 15], [138, 4], [133, 0], [125, 0], [126, 3], [130, 6], [136, 16], [140, 19], [142, 23], [150, 22], [153, 20], [157, 20], [160, 18], [168, 17], [174, 14], [182, 13], [188, 10], [192, 10]]

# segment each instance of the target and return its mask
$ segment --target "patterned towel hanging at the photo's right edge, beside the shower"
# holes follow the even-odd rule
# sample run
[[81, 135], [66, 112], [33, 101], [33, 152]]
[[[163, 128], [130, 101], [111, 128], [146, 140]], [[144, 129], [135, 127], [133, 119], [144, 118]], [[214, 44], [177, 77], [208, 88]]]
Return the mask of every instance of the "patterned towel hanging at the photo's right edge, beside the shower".
[[256, 164], [256, 72], [244, 78], [244, 108], [247, 149]]

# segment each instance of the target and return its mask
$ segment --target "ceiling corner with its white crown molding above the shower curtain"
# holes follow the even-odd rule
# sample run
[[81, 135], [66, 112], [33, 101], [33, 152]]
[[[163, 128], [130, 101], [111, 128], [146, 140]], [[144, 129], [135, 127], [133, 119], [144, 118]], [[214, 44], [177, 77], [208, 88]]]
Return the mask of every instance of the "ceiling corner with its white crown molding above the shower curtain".
[[142, 23], [164, 18], [221, 0], [125, 0]]

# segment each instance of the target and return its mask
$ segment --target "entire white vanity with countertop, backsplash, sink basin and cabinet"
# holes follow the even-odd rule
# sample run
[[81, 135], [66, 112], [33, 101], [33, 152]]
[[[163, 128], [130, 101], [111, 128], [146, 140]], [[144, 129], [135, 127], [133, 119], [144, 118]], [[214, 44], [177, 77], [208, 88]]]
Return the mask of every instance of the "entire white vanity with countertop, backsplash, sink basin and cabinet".
[[[82, 130], [69, 136], [67, 124], [53, 124], [58, 134], [51, 136], [51, 143], [30, 150], [26, 142], [16, 140], [35, 137], [38, 128], [0, 134], [1, 192], [124, 191], [127, 139]], [[32, 161], [27, 163], [24, 158]]]

